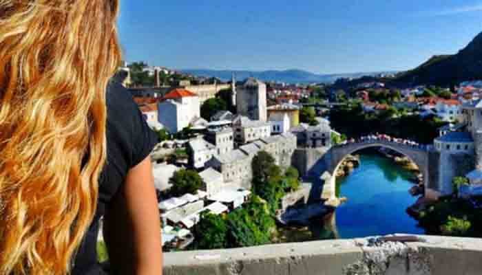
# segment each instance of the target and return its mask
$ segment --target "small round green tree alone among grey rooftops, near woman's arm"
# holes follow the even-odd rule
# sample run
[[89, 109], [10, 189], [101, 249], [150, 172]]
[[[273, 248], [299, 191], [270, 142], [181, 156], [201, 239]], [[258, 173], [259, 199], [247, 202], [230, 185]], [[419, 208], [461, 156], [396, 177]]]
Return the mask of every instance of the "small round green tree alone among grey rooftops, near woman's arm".
[[169, 192], [174, 196], [182, 196], [187, 193], [196, 194], [196, 191], [205, 185], [198, 172], [187, 169], [174, 172], [169, 179], [169, 184], [172, 184]]

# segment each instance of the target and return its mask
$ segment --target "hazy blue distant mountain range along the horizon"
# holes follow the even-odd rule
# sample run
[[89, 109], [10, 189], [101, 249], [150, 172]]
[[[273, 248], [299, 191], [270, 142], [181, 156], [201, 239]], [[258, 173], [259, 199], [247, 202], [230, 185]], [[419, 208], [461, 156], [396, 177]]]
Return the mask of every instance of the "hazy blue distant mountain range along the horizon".
[[362, 76], [376, 76], [379, 74], [395, 74], [395, 72], [313, 74], [300, 69], [287, 69], [285, 71], [269, 70], [262, 72], [215, 69], [181, 69], [180, 71], [194, 76], [216, 77], [222, 80], [231, 80], [231, 76], [235, 74], [237, 80], [255, 77], [263, 81], [280, 81], [284, 83], [333, 83], [338, 78], [359, 78]]

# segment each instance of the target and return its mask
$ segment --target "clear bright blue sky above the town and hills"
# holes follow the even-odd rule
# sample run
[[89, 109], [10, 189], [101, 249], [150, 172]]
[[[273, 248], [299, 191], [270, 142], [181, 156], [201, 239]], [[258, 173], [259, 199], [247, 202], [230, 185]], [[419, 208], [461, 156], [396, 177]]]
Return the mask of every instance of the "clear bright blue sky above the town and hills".
[[122, 0], [127, 61], [175, 69], [416, 67], [482, 32], [482, 0]]

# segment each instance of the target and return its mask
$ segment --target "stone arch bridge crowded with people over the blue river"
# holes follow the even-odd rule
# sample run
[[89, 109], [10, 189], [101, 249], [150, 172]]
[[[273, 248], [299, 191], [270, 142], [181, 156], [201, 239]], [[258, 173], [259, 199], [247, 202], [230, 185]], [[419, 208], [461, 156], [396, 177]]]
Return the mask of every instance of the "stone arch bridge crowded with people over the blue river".
[[415, 162], [415, 164], [419, 166], [420, 172], [423, 175], [423, 184], [424, 186], [428, 186], [430, 148], [426, 146], [411, 146], [399, 142], [390, 142], [388, 140], [369, 140], [333, 146], [326, 153], [326, 172], [322, 175], [322, 180], [324, 180], [322, 190], [323, 199], [333, 199], [335, 197], [335, 172], [342, 164], [343, 160], [356, 151], [370, 147], [389, 148], [408, 157], [412, 162]]

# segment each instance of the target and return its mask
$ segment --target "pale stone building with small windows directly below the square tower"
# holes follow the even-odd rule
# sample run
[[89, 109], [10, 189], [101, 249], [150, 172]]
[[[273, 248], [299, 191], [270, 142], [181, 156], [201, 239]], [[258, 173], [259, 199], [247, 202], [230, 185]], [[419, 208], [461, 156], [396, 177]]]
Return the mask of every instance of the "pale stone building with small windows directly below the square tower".
[[271, 124], [261, 120], [250, 120], [238, 115], [233, 119], [234, 139], [240, 144], [246, 144], [271, 135]]

